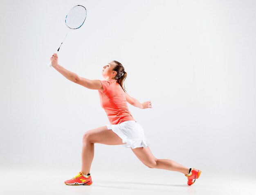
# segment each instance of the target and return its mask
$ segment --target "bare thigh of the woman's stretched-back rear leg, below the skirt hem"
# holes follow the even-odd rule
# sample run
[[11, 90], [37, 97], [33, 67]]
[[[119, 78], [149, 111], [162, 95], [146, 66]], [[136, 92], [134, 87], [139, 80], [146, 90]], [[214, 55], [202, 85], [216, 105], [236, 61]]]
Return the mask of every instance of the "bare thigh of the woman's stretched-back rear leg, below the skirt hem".
[[139, 160], [149, 168], [154, 168], [157, 163], [157, 158], [150, 151], [149, 146], [139, 147], [132, 149], [133, 153], [139, 158]]

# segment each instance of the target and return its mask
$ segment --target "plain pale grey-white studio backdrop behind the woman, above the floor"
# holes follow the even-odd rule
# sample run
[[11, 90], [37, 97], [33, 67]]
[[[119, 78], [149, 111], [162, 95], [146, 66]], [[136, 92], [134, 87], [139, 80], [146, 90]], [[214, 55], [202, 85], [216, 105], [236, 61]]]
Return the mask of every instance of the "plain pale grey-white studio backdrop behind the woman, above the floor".
[[[59, 64], [81, 77], [103, 79], [102, 67], [120, 61], [128, 94], [153, 103], [153, 109], [129, 108], [156, 158], [209, 174], [256, 174], [253, 0], [2, 0], [3, 169], [75, 174], [84, 132], [109, 123], [97, 90], [47, 66], [76, 4], [88, 16], [67, 35]], [[152, 171], [130, 149], [95, 144], [92, 174], [144, 169]], [[165, 170], [150, 173], [159, 171]]]

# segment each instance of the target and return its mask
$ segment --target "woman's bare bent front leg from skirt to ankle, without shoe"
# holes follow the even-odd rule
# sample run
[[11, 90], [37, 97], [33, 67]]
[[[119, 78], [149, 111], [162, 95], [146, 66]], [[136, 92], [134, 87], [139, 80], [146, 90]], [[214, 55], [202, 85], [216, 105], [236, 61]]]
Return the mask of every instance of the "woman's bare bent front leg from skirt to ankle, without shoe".
[[108, 130], [107, 126], [99, 127], [86, 131], [83, 134], [83, 147], [82, 147], [82, 168], [81, 172], [87, 175], [90, 173], [92, 160], [94, 157], [94, 143], [106, 145], [122, 145], [122, 139], [115, 134], [111, 129]]

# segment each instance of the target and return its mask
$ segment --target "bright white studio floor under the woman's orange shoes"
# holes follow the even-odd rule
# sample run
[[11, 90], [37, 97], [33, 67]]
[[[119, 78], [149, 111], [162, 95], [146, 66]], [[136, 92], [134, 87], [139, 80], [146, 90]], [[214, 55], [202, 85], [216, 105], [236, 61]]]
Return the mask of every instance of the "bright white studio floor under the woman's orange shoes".
[[[78, 170], [79, 171], [79, 170]], [[0, 169], [2, 195], [236, 195], [255, 194], [256, 180], [227, 175], [202, 174], [188, 186], [186, 177], [177, 172], [147, 169], [127, 173], [94, 173], [91, 186], [67, 186], [65, 180], [76, 175], [73, 171], [44, 169]]]

